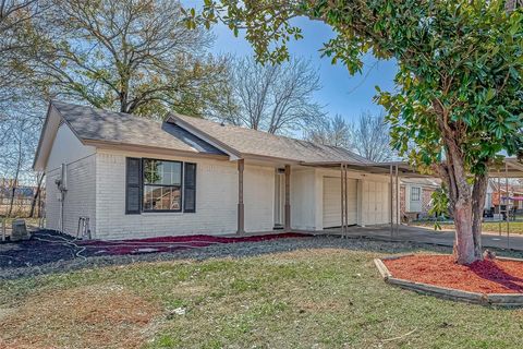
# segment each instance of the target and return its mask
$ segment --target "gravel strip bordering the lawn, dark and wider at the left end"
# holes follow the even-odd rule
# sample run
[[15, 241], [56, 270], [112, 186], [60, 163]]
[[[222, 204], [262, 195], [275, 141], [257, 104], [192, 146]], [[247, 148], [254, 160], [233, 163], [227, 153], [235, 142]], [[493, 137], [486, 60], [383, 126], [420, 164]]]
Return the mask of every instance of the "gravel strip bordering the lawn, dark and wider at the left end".
[[[35, 237], [38, 239], [35, 239]], [[44, 240], [49, 240], [50, 242]], [[57, 240], [62, 240], [63, 243], [58, 244], [56, 243]], [[63, 236], [52, 237], [52, 234], [40, 231], [36, 232], [29, 241], [0, 244], [0, 279], [65, 273], [81, 268], [94, 268], [108, 265], [125, 265], [135, 262], [245, 257], [267, 253], [327, 248], [369, 251], [384, 254], [410, 252], [421, 249], [440, 253], [452, 252], [450, 248], [439, 245], [316, 236], [262, 242], [215, 244], [166, 253], [83, 256], [82, 251], [77, 246], [70, 244], [71, 240], [72, 239]], [[497, 251], [497, 253], [498, 255], [523, 257], [523, 252]], [[78, 257], [78, 255], [81, 256]]]

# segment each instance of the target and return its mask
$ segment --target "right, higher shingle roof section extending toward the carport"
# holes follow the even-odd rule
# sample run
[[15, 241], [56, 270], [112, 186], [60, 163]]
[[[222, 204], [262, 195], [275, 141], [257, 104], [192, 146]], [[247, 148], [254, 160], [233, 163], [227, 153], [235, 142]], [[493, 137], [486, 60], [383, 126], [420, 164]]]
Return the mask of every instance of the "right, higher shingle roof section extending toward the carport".
[[341, 147], [273, 135], [235, 125], [223, 125], [205, 119], [175, 115], [168, 121], [187, 123], [242, 155], [267, 156], [304, 163], [346, 161], [373, 164], [364, 157]]

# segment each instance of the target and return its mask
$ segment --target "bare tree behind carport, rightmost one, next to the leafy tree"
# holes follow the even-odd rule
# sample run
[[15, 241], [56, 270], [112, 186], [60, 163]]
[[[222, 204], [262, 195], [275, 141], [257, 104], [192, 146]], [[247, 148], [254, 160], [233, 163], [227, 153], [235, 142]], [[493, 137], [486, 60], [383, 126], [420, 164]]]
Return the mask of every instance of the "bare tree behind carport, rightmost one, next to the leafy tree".
[[384, 115], [362, 112], [350, 132], [351, 147], [372, 161], [387, 161], [394, 157], [390, 146], [389, 127]]

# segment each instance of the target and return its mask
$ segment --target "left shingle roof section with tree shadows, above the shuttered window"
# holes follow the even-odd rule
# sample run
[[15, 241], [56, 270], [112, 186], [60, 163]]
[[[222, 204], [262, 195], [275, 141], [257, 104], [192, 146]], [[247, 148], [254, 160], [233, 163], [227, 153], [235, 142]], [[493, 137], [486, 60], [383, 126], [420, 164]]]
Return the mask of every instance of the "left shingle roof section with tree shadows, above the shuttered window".
[[52, 101], [51, 105], [73, 132], [84, 141], [143, 145], [192, 153], [224, 154], [172, 123], [61, 101]]

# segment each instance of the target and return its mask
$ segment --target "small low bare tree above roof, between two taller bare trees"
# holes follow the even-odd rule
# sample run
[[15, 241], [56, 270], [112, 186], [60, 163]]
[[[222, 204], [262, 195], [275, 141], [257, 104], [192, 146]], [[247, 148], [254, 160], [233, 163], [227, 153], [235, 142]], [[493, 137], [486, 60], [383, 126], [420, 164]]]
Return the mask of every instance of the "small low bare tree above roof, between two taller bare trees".
[[306, 139], [314, 143], [349, 148], [351, 125], [340, 116], [325, 119], [318, 127], [306, 133]]

